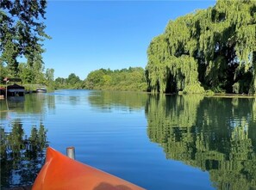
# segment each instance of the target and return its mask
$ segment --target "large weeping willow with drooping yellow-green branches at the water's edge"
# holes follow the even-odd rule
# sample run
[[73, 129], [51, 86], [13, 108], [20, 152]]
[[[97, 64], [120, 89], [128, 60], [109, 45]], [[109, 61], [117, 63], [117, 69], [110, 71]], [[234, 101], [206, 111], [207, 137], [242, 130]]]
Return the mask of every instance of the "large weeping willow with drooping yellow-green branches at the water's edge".
[[148, 89], [256, 92], [256, 2], [218, 0], [170, 21], [147, 49]]

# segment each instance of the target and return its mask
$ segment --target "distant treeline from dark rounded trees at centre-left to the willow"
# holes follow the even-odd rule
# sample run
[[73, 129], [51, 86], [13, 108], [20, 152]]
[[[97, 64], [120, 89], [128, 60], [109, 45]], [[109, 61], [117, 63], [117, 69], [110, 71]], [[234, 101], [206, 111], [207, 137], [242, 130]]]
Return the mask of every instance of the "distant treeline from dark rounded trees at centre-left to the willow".
[[75, 74], [68, 78], [56, 78], [55, 89], [110, 89], [146, 91], [147, 83], [145, 70], [141, 67], [129, 67], [122, 70], [93, 70], [84, 79], [80, 80]]

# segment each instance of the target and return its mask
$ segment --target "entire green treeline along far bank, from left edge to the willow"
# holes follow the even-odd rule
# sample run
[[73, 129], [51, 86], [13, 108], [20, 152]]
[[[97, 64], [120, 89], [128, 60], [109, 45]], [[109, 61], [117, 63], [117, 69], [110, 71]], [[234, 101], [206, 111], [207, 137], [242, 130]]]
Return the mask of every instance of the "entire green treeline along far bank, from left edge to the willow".
[[[1, 83], [8, 73], [6, 67], [2, 67], [0, 73]], [[47, 69], [46, 72], [33, 70], [27, 64], [20, 64], [16, 77], [22, 79], [22, 84], [42, 84], [47, 89], [110, 89], [124, 91], [147, 91], [145, 70], [141, 67], [129, 67], [122, 70], [99, 69], [93, 70], [89, 75], [81, 80], [76, 74], [71, 73], [67, 78], [57, 77], [53, 79], [54, 70]], [[25, 88], [32, 88], [25, 85]], [[31, 90], [31, 89], [28, 89]]]

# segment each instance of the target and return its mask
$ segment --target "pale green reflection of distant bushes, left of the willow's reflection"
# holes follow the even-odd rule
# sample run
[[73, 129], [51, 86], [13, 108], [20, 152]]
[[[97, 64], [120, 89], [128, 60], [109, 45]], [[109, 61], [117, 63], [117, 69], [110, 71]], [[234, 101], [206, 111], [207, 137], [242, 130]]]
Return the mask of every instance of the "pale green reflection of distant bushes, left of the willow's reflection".
[[129, 107], [130, 109], [140, 109], [145, 107], [147, 94], [140, 92], [120, 92], [120, 91], [92, 91], [88, 97], [92, 107], [101, 109], [111, 109], [111, 107]]

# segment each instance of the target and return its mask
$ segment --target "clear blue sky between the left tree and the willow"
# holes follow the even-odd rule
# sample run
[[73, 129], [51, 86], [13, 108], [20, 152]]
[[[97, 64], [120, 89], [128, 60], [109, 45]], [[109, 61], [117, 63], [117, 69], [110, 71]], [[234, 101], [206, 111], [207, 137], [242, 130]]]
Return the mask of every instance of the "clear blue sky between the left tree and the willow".
[[43, 60], [54, 77], [147, 65], [147, 47], [170, 20], [215, 0], [48, 1]]

